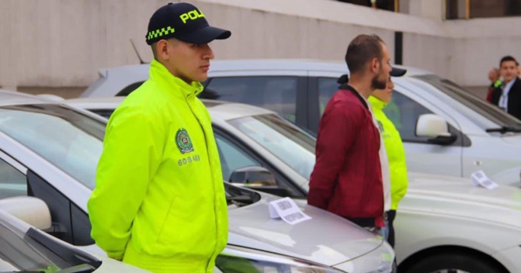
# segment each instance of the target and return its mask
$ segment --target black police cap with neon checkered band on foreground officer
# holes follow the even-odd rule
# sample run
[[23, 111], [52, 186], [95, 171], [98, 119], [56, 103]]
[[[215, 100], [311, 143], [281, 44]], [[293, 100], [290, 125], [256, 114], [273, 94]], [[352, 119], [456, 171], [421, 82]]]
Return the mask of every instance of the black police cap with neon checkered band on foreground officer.
[[188, 3], [168, 3], [160, 7], [148, 22], [146, 43], [177, 38], [191, 44], [207, 44], [231, 36], [229, 30], [210, 27], [201, 10]]

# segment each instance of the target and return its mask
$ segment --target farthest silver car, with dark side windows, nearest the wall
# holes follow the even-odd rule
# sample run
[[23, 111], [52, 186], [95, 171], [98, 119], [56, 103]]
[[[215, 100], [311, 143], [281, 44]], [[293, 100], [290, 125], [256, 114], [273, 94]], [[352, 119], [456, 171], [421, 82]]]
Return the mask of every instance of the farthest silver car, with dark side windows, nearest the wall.
[[[148, 68], [101, 70], [82, 97], [128, 95], [148, 79]], [[393, 79], [395, 92], [384, 111], [400, 131], [409, 170], [461, 177], [483, 170], [498, 183], [521, 186], [521, 121], [431, 72], [401, 68], [407, 74]], [[344, 62], [213, 61], [200, 96], [270, 109], [317, 132], [337, 79], [346, 72]], [[425, 114], [436, 116], [420, 119]], [[437, 129], [437, 122], [447, 125]]]

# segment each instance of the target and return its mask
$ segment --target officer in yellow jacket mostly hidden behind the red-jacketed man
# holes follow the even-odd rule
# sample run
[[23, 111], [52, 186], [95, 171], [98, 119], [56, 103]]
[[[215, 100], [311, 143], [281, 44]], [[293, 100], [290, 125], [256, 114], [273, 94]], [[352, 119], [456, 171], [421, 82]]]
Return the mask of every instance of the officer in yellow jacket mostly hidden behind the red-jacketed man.
[[[406, 70], [393, 68], [392, 76], [402, 76]], [[383, 112], [388, 103], [391, 101], [392, 88], [394, 84], [389, 78], [386, 89], [376, 89], [373, 95], [369, 97], [371, 109], [375, 114], [379, 129], [386, 147], [387, 158], [389, 160], [389, 170], [391, 177], [391, 210], [387, 212], [389, 237], [388, 242], [394, 247], [394, 227], [393, 220], [396, 216], [396, 209], [398, 203], [405, 196], [407, 192], [407, 165], [405, 162], [405, 151], [403, 149], [402, 138], [400, 133], [394, 127], [394, 124], [389, 120]]]

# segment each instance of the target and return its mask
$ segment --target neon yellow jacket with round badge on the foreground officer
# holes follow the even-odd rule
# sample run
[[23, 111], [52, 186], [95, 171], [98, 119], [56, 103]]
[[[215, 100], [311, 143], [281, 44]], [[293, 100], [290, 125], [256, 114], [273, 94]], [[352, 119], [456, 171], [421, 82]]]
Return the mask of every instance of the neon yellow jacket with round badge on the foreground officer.
[[213, 272], [227, 204], [203, 86], [153, 60], [150, 80], [110, 116], [88, 202], [109, 257], [153, 272]]

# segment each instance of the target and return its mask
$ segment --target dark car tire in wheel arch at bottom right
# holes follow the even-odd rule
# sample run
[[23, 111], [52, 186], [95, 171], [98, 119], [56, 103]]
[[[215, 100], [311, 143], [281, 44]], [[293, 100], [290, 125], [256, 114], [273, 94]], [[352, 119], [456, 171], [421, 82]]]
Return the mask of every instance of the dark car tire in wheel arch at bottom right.
[[487, 259], [465, 253], [444, 253], [424, 258], [408, 267], [405, 273], [504, 273]]

